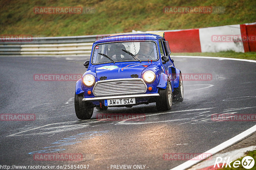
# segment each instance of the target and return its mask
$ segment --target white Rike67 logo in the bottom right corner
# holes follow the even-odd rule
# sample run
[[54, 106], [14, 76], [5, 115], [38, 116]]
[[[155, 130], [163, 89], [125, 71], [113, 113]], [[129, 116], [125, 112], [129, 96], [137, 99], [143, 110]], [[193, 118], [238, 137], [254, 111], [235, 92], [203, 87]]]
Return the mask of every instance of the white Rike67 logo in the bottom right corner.
[[[223, 161], [223, 163], [222, 163]], [[217, 157], [216, 161], [214, 163], [214, 168], [215, 167], [234, 167], [234, 168], [238, 168], [241, 167], [241, 165], [245, 168], [245, 169], [251, 169], [254, 166], [254, 159], [251, 156], [245, 156], [242, 161], [240, 160], [236, 160], [235, 162], [233, 162], [234, 160], [230, 161], [230, 157], [228, 157], [228, 159], [225, 157], [224, 160], [221, 157]], [[233, 164], [231, 164], [233, 162]], [[225, 166], [226, 164], [226, 166]]]

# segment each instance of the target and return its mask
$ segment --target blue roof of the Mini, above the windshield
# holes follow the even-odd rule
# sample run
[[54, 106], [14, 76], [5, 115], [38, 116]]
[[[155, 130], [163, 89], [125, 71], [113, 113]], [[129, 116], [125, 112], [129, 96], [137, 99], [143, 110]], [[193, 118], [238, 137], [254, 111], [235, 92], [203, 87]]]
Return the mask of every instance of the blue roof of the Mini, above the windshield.
[[115, 35], [115, 36], [110, 36], [110, 37], [105, 37], [102, 39], [99, 39], [95, 41], [96, 43], [98, 42], [110, 42], [110, 41], [125, 41], [125, 40], [156, 40], [156, 39], [161, 39], [160, 35], [156, 34], [122, 34], [122, 35]]

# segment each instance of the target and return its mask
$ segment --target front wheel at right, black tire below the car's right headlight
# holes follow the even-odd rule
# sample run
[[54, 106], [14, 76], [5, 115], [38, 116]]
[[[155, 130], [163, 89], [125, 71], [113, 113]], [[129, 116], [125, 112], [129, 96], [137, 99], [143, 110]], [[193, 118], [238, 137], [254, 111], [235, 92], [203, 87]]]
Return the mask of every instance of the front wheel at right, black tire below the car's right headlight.
[[[168, 94], [169, 92], [169, 94]], [[167, 81], [167, 86], [165, 89], [158, 89], [160, 95], [159, 99], [156, 101], [156, 109], [158, 111], [167, 111], [172, 107], [172, 85], [170, 80]]]

